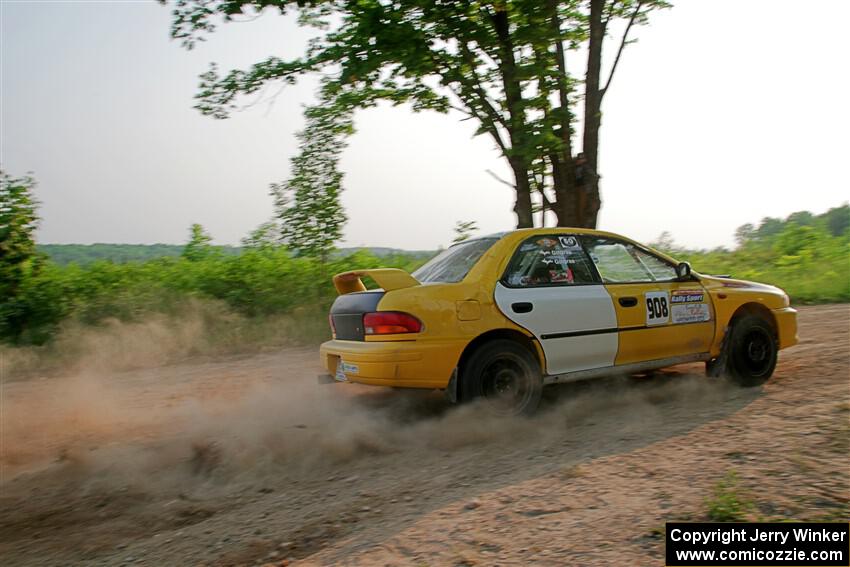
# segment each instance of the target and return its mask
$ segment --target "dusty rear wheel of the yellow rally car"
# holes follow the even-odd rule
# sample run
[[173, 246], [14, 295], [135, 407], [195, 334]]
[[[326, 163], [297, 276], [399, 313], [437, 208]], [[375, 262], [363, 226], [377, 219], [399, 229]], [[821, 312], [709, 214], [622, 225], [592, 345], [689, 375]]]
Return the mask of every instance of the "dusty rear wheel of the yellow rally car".
[[480, 399], [500, 415], [533, 414], [542, 392], [540, 364], [528, 349], [507, 339], [480, 346], [461, 374], [461, 401]]

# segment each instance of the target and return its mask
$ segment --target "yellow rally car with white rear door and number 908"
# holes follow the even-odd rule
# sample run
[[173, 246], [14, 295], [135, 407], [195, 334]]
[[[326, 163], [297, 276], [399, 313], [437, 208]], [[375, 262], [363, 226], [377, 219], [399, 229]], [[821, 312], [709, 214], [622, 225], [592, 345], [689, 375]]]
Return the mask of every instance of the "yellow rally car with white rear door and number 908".
[[755, 386], [797, 342], [782, 290], [698, 274], [596, 230], [476, 238], [413, 274], [360, 270], [334, 284], [320, 381], [439, 388], [515, 413], [533, 412], [546, 384], [685, 362]]

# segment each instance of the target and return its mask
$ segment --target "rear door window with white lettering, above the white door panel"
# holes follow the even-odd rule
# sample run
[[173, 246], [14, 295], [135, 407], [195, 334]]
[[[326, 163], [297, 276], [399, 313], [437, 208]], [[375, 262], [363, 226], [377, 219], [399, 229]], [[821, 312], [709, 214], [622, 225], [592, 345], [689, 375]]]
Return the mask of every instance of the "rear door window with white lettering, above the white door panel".
[[505, 272], [511, 287], [599, 283], [575, 236], [534, 236], [520, 244]]

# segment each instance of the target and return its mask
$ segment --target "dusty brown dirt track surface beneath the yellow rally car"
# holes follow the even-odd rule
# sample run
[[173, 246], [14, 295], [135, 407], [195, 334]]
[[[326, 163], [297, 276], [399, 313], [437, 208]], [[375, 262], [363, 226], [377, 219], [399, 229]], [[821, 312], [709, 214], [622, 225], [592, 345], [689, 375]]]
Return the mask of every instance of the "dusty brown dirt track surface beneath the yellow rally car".
[[314, 349], [2, 385], [3, 565], [662, 565], [734, 471], [751, 519], [850, 518], [850, 306], [742, 390], [699, 365], [533, 419], [318, 386]]

